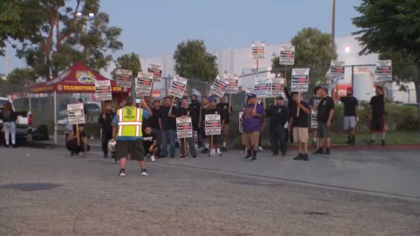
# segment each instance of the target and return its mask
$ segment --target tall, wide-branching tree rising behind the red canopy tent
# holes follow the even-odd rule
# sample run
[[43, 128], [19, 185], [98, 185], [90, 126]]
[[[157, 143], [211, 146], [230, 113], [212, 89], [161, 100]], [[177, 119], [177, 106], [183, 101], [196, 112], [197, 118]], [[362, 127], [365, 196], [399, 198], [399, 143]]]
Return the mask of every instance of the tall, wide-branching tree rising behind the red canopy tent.
[[[123, 47], [122, 30], [109, 27], [109, 15], [99, 11], [99, 0], [25, 0], [21, 23], [25, 35], [17, 55], [45, 79], [82, 60], [93, 70], [106, 69]], [[71, 4], [75, 4], [71, 7]]]

